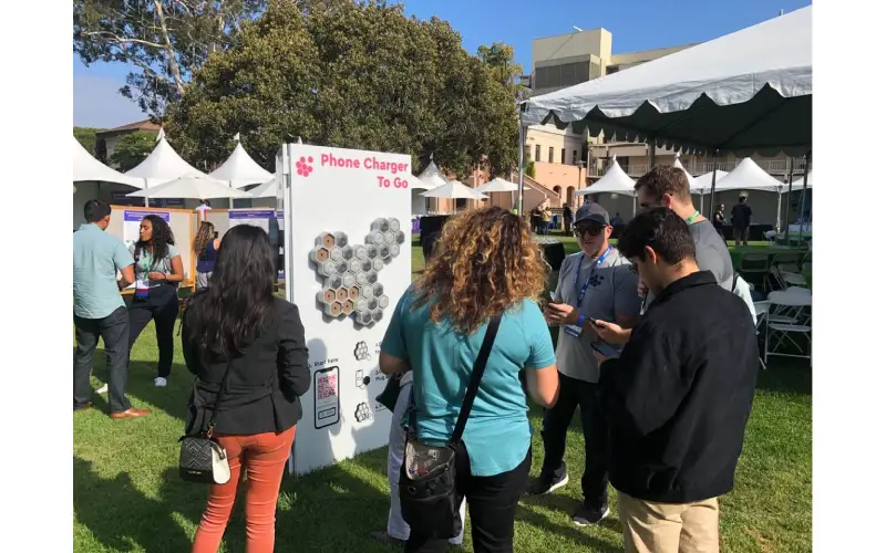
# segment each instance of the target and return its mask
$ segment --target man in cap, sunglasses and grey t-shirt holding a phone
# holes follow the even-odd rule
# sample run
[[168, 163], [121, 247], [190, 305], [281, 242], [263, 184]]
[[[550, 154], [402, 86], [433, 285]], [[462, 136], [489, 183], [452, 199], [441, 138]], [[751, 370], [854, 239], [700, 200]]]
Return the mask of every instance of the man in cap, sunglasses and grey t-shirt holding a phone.
[[609, 514], [607, 503], [607, 427], [597, 390], [599, 366], [594, 354], [600, 341], [593, 321], [612, 321], [631, 327], [640, 312], [638, 278], [618, 250], [609, 246], [612, 226], [609, 213], [598, 204], [586, 204], [575, 215], [575, 236], [581, 248], [568, 255], [560, 268], [557, 290], [545, 314], [560, 327], [557, 340], [557, 368], [560, 397], [544, 415], [542, 439], [545, 460], [540, 476], [527, 493], [540, 495], [566, 486], [569, 477], [564, 461], [566, 431], [581, 408], [585, 434], [585, 500], [573, 517], [579, 526], [600, 522]]

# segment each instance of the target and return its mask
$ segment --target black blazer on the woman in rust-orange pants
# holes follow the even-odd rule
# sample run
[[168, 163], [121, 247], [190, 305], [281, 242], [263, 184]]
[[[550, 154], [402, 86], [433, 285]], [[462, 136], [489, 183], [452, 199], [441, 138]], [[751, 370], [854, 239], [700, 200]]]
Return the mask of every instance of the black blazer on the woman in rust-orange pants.
[[[188, 401], [187, 434], [205, 430], [227, 362], [206, 363], [189, 338], [188, 327], [200, 310], [199, 298], [182, 321], [182, 348], [188, 371], [196, 375]], [[298, 307], [275, 298], [268, 322], [258, 337], [231, 362], [227, 393], [218, 405], [215, 429], [220, 434], [282, 432], [301, 418], [299, 396], [310, 388], [308, 347]]]

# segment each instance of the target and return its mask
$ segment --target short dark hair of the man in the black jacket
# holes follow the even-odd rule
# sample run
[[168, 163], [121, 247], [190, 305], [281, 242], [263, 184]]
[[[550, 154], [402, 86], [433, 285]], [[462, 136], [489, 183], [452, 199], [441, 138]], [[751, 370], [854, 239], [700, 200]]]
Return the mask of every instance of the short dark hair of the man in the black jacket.
[[638, 213], [618, 239], [618, 251], [626, 258], [645, 260], [647, 246], [672, 265], [696, 258], [696, 242], [689, 226], [669, 208]]

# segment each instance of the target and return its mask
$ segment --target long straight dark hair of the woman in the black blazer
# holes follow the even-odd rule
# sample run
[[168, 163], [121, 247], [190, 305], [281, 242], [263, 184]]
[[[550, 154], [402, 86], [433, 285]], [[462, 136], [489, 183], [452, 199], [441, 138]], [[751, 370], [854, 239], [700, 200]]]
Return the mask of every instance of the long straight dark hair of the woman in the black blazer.
[[212, 285], [196, 292], [187, 307], [199, 306], [186, 336], [205, 358], [236, 357], [255, 341], [274, 306], [275, 261], [264, 229], [238, 225], [225, 233]]

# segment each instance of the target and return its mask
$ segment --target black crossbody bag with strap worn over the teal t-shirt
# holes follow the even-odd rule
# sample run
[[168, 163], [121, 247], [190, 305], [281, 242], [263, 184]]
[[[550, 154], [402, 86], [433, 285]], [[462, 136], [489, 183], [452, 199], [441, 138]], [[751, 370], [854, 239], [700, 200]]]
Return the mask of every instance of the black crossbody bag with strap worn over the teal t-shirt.
[[455, 448], [462, 441], [462, 434], [474, 406], [480, 380], [486, 369], [501, 322], [501, 315], [490, 321], [480, 354], [474, 362], [455, 429], [445, 446], [427, 446], [419, 440], [414, 396], [410, 398], [406, 447], [400, 468], [400, 510], [411, 531], [420, 535], [450, 539], [462, 532], [462, 518], [459, 513], [462, 498], [455, 492]]

